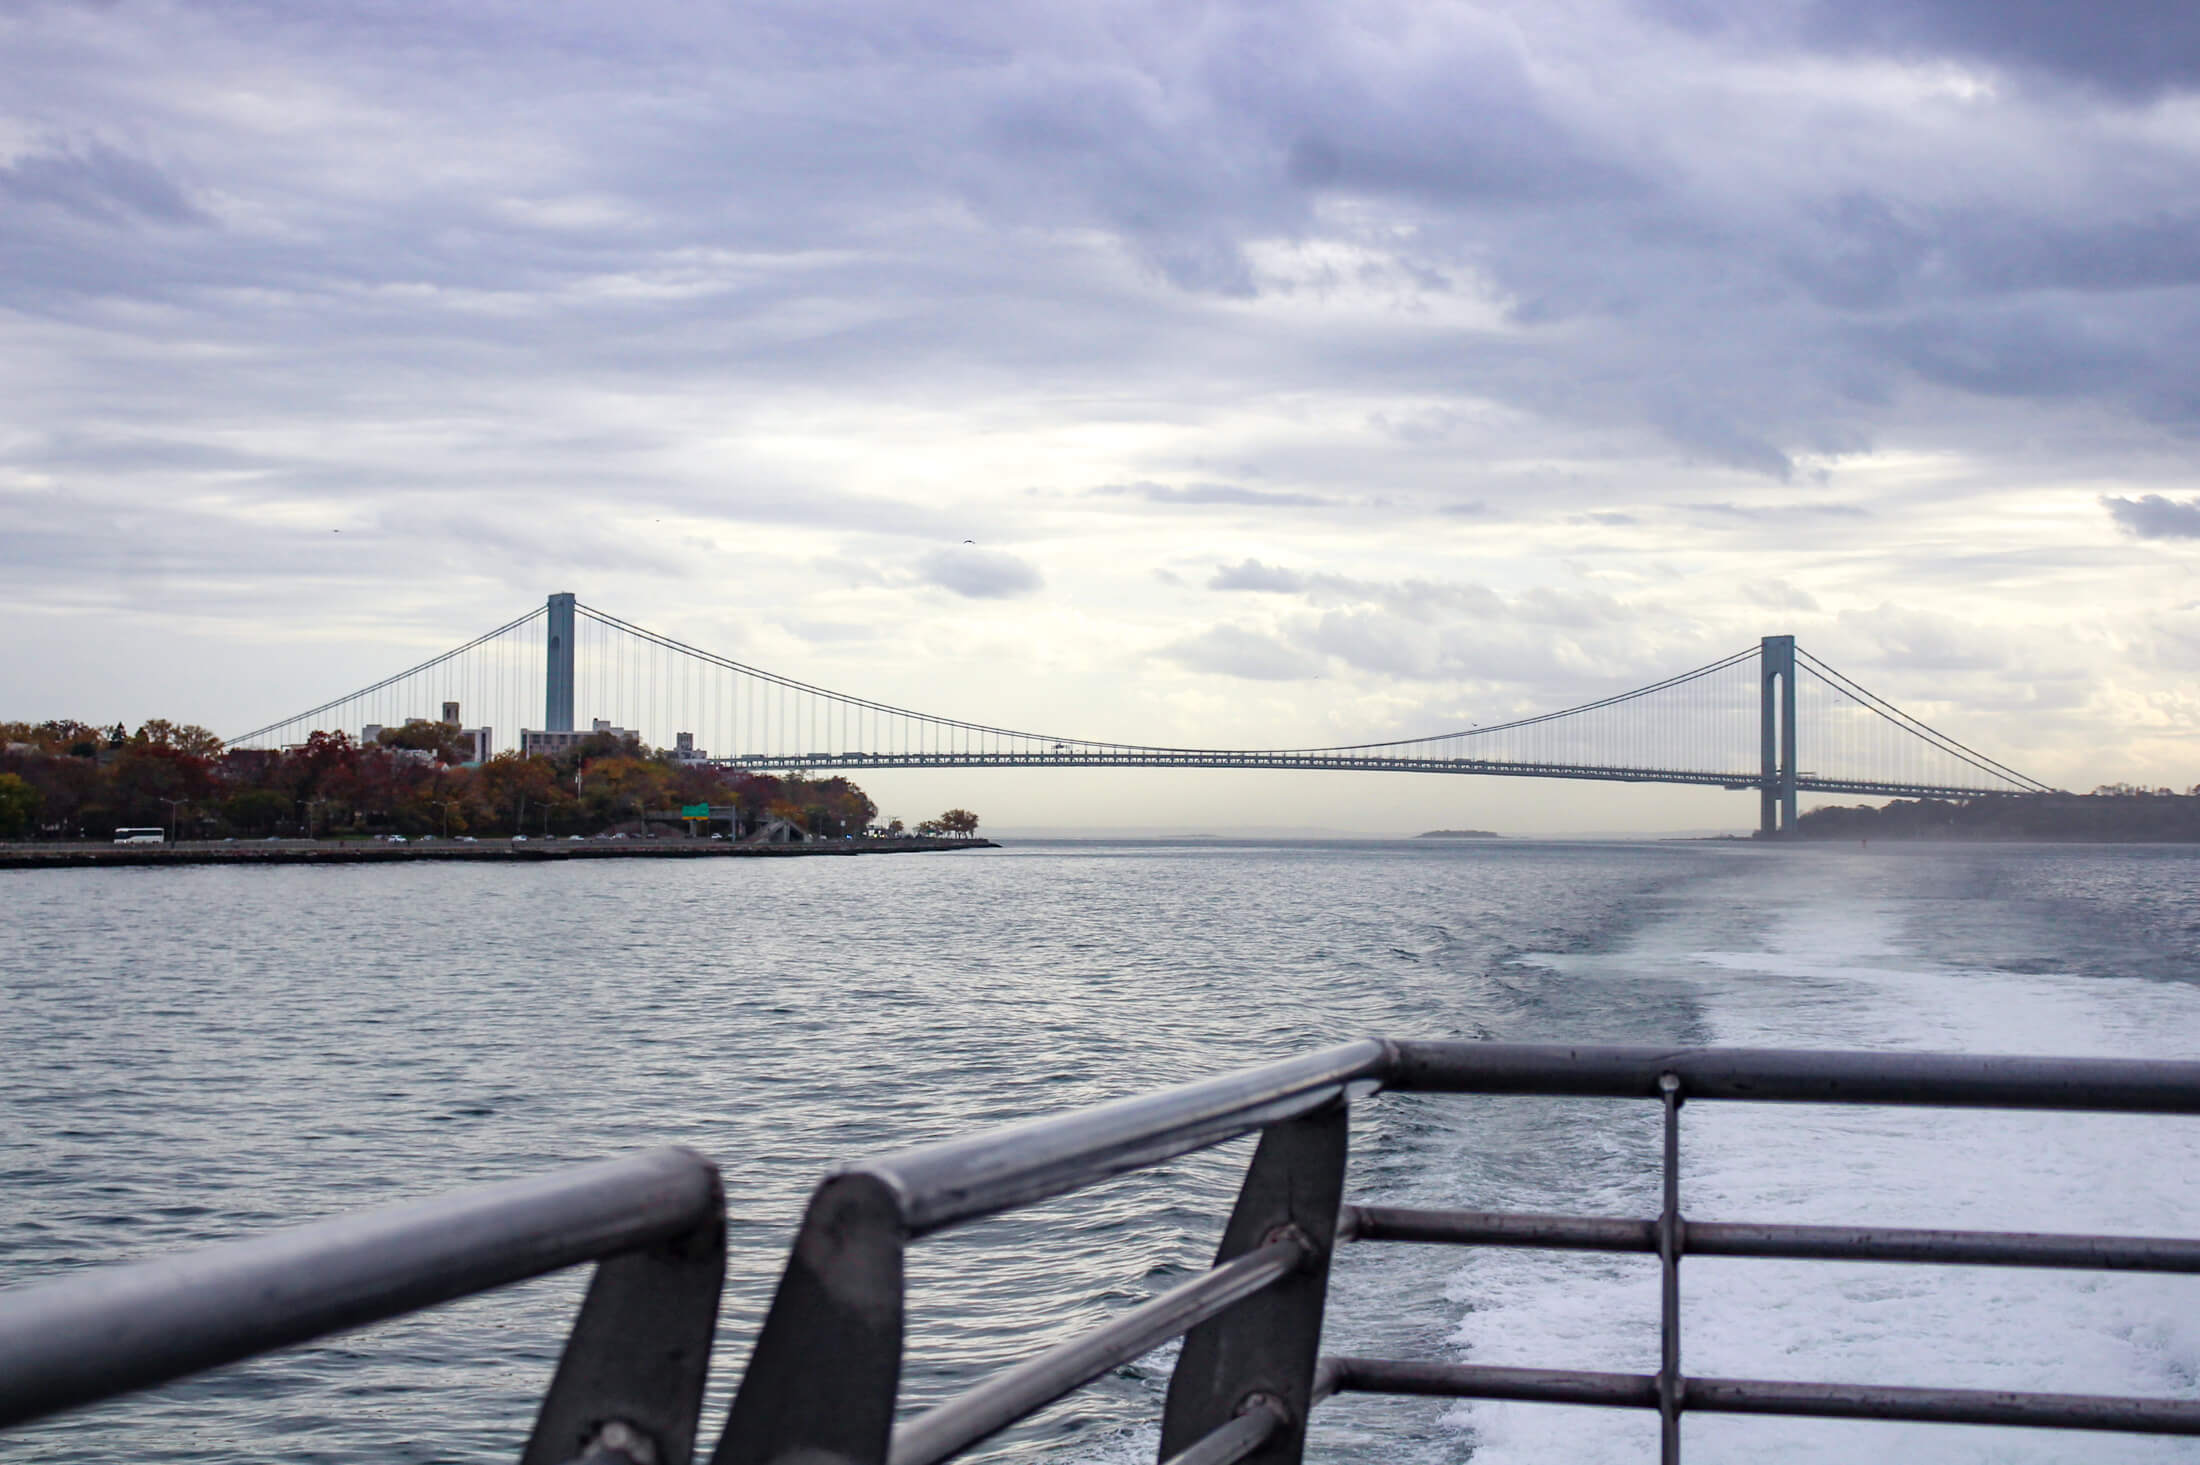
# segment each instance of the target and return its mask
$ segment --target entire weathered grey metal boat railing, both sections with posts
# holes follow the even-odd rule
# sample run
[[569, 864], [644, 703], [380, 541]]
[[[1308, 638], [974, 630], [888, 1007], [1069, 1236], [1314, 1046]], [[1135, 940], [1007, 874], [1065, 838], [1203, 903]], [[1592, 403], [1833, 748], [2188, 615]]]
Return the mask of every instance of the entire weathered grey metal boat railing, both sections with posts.
[[[1346, 1113], [1377, 1089], [1657, 1102], [1663, 1205], [1654, 1219], [1349, 1205]], [[2200, 1062], [1362, 1040], [887, 1155], [836, 1170], [812, 1197], [713, 1465], [935, 1465], [1173, 1337], [1184, 1348], [1162, 1414], [1166, 1465], [1296, 1465], [1311, 1410], [1349, 1392], [1654, 1410], [1668, 1463], [1690, 1412], [2200, 1434], [2200, 1399], [1685, 1375], [1687, 1256], [2200, 1271], [2200, 1241], [2174, 1236], [1694, 1221], [1681, 1212], [1685, 1102], [2191, 1115]], [[898, 1423], [909, 1245], [1254, 1133], [1214, 1269]], [[1324, 1359], [1329, 1260], [1344, 1243], [1654, 1254], [1661, 1366]], [[603, 1256], [524, 1465], [686, 1465], [722, 1245], [715, 1172], [684, 1150], [656, 1150], [88, 1271], [0, 1293], [0, 1423]]]

